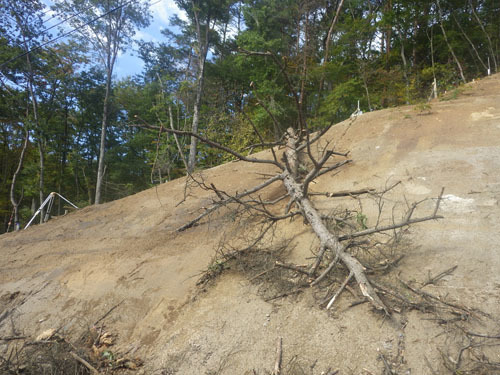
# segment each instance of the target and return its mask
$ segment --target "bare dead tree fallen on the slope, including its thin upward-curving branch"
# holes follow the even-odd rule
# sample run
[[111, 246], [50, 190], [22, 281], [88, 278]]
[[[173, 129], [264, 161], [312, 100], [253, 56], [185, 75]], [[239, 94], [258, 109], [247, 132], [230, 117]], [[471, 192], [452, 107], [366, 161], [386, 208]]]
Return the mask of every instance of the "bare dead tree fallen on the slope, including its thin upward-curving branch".
[[[323, 128], [315, 134], [311, 134], [305, 114], [302, 110], [301, 100], [298, 90], [294, 88], [292, 80], [286, 73], [286, 67], [283, 65], [280, 58], [278, 58], [274, 53], [266, 52], [255, 52], [255, 51], [241, 51], [246, 55], [253, 56], [265, 56], [270, 57], [274, 63], [280, 68], [281, 74], [284, 75], [285, 83], [294, 99], [295, 107], [297, 109], [297, 129], [288, 129], [287, 134], [282, 137], [281, 140], [274, 143], [275, 146], [285, 147], [285, 152], [279, 152], [274, 147], [270, 148], [272, 159], [260, 159], [252, 156], [246, 156], [242, 153], [235, 151], [229, 147], [219, 144], [210, 139], [200, 136], [197, 132], [181, 131], [175, 130], [173, 128], [166, 128], [161, 126], [150, 125], [144, 121], [141, 124], [135, 124], [133, 126], [143, 127], [152, 129], [156, 132], [167, 132], [174, 135], [190, 136], [198, 139], [200, 142], [224, 151], [234, 158], [257, 164], [267, 164], [272, 165], [276, 168], [276, 173], [269, 177], [267, 180], [261, 184], [254, 186], [244, 192], [229, 194], [223, 190], [218, 189], [213, 183], [207, 184], [203, 180], [196, 180], [193, 175], [189, 175], [188, 178], [195, 180], [195, 182], [201, 188], [205, 190], [210, 190], [215, 193], [213, 203], [210, 207], [205, 208], [205, 211], [199, 214], [197, 217], [192, 219], [190, 222], [178, 228], [178, 231], [184, 231], [195, 225], [198, 225], [204, 218], [213, 214], [217, 210], [227, 207], [228, 205], [236, 204], [240, 208], [244, 209], [246, 212], [250, 212], [256, 216], [259, 216], [263, 220], [269, 223], [265, 226], [261, 234], [257, 236], [257, 239], [253, 241], [252, 245], [255, 245], [258, 241], [261, 241], [265, 233], [270, 227], [274, 226], [277, 222], [285, 219], [290, 219], [294, 216], [300, 215], [303, 217], [304, 222], [310, 225], [314, 231], [316, 237], [319, 240], [319, 250], [316, 254], [315, 259], [309, 266], [308, 270], [300, 270], [302, 273], [306, 273], [309, 278], [309, 285], [316, 285], [325, 278], [325, 276], [335, 268], [335, 265], [340, 261], [349, 271], [348, 280], [342, 284], [343, 287], [347, 285], [351, 278], [354, 278], [361, 290], [363, 296], [366, 297], [368, 301], [379, 311], [384, 311], [386, 314], [390, 314], [389, 309], [382, 302], [378, 296], [375, 288], [370, 283], [365, 267], [361, 262], [349, 252], [350, 247], [353, 244], [354, 239], [360, 237], [372, 235], [374, 233], [393, 231], [397, 228], [403, 228], [414, 223], [433, 220], [441, 218], [437, 214], [439, 209], [439, 204], [442, 197], [442, 192], [437, 203], [434, 207], [432, 214], [423, 217], [414, 217], [415, 210], [418, 203], [408, 206], [408, 210], [400, 221], [393, 221], [391, 225], [381, 226], [377, 220], [377, 224], [373, 228], [362, 228], [360, 231], [349, 233], [347, 235], [340, 236], [334, 233], [328, 228], [327, 220], [329, 217], [321, 215], [319, 210], [315, 207], [314, 202], [311, 200], [311, 194], [309, 192], [310, 184], [321, 177], [324, 174], [335, 171], [346, 164], [351, 162], [347, 158], [348, 153], [338, 152], [333, 149], [333, 147], [324, 147], [319, 155], [312, 152], [313, 145], [318, 142], [322, 136], [331, 128], [332, 125]], [[257, 128], [253, 125], [250, 119], [250, 124], [252, 125], [257, 137], [260, 140], [260, 144], [254, 145], [255, 147], [266, 147], [269, 143], [266, 143], [263, 136], [259, 133]], [[352, 120], [355, 121], [355, 118]], [[277, 125], [279, 128], [279, 125]], [[310, 167], [304, 168], [303, 158], [307, 159], [307, 164]], [[334, 160], [337, 158], [337, 160]], [[340, 160], [338, 158], [341, 158]], [[305, 171], [305, 173], [299, 173]], [[261, 199], [261, 192], [268, 188], [270, 185], [281, 183], [286, 189], [286, 194], [274, 199], [272, 201], [263, 201]], [[288, 199], [288, 204], [286, 205], [284, 211], [279, 212], [278, 203], [284, 199]], [[278, 211], [278, 212], [277, 212]], [[249, 247], [247, 247], [249, 248]], [[324, 267], [323, 263], [326, 260], [326, 255], [330, 254], [333, 259], [330, 264]], [[285, 265], [286, 266], [286, 265]], [[298, 269], [295, 267], [295, 269]], [[318, 275], [318, 272], [322, 272]], [[340, 293], [341, 290], [338, 291]], [[338, 294], [337, 293], [337, 294]]]

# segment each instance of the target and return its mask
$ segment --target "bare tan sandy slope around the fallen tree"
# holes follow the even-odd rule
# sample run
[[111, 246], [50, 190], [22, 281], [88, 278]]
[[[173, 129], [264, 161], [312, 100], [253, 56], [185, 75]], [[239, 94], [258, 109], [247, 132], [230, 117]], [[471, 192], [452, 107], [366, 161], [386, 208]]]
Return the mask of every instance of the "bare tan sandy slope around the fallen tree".
[[[423, 111], [408, 106], [364, 114], [332, 128], [326, 140], [350, 150], [354, 162], [319, 178], [313, 191], [382, 188], [401, 181], [398, 198], [404, 193], [416, 201], [436, 197], [445, 187], [445, 219], [412, 227], [399, 276], [424, 281], [457, 265], [426, 290], [497, 316], [500, 76], [471, 83], [457, 98], [433, 102]], [[235, 192], [273, 172], [232, 162], [203, 176]], [[210, 202], [209, 192], [188, 191], [179, 204], [185, 193], [180, 179], [2, 235], [0, 340], [36, 337], [48, 328], [76, 337], [99, 321], [117, 336], [113, 350], [141, 357], [140, 371], [147, 374], [265, 373], [272, 370], [277, 337], [283, 338], [289, 374], [329, 368], [340, 374], [381, 373], [379, 353], [390, 356], [402, 349], [405, 373], [432, 374], [424, 358], [442, 373], [439, 349], [460, 346], [421, 313], [401, 314], [398, 319], [407, 322], [402, 328], [368, 304], [347, 309], [354, 298], [349, 293], [328, 312], [317, 306], [313, 292], [265, 302], [261, 286], [236, 270], [200, 291], [196, 275], [210, 264], [231, 220], [219, 217], [176, 232]], [[267, 195], [282, 191], [273, 185]], [[334, 208], [331, 199], [315, 202], [324, 210]], [[369, 217], [370, 210], [367, 205]], [[301, 220], [281, 225], [278, 236], [293, 240], [291, 260], [304, 263], [311, 256], [314, 240]], [[490, 323], [474, 328], [498, 334], [490, 332], [496, 329]], [[7, 346], [0, 341], [0, 355]], [[500, 362], [500, 355], [494, 359]]]

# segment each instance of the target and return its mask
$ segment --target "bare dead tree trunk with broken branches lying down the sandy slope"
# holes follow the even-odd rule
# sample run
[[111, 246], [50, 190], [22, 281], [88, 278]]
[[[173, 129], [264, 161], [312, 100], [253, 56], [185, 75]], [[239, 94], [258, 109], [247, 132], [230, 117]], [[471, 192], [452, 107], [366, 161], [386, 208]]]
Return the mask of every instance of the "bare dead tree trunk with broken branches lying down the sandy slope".
[[[264, 217], [269, 221], [270, 225], [273, 225], [280, 220], [289, 219], [296, 215], [301, 215], [304, 218], [304, 221], [311, 226], [320, 243], [319, 251], [317, 252], [317, 255], [310, 265], [309, 269], [305, 272], [304, 270], [301, 270], [302, 272], [307, 273], [307, 275], [309, 276], [310, 284], [316, 285], [321, 279], [325, 277], [328, 272], [330, 272], [334, 268], [337, 261], [340, 261], [348, 269], [349, 279], [353, 277], [357, 281], [357, 284], [363, 296], [365, 296], [377, 310], [384, 311], [386, 314], [390, 313], [389, 309], [379, 298], [375, 288], [370, 283], [365, 272], [365, 267], [355, 256], [353, 256], [348, 251], [351, 241], [355, 238], [368, 236], [374, 233], [391, 231], [397, 228], [409, 226], [414, 223], [441, 218], [441, 216], [437, 214], [437, 211], [441, 201], [442, 193], [437, 199], [434, 211], [430, 215], [423, 217], [414, 217], [417, 204], [413, 204], [409, 207], [408, 212], [401, 221], [394, 222], [391, 225], [377, 225], [376, 227], [363, 229], [361, 231], [344, 236], [339, 236], [333, 233], [330, 229], [328, 229], [328, 225], [326, 222], [328, 218], [324, 215], [321, 215], [319, 210], [315, 207], [314, 202], [311, 200], [311, 194], [309, 193], [309, 185], [315, 179], [326, 173], [337, 170], [351, 162], [351, 160], [346, 158], [346, 153], [336, 152], [331, 149], [324, 150], [322, 155], [320, 155], [320, 157], [316, 160], [311, 152], [311, 146], [321, 138], [321, 136], [328, 130], [328, 128], [323, 129], [315, 135], [307, 134], [306, 136], [302, 137], [302, 140], [300, 140], [299, 137], [294, 134], [294, 132], [290, 131], [287, 135], [286, 151], [281, 152], [280, 158], [278, 157], [278, 152], [272, 149], [272, 159], [259, 159], [240, 154], [235, 150], [232, 150], [217, 142], [203, 138], [193, 132], [168, 129], [149, 124], [141, 124], [137, 126], [154, 129], [155, 131], [173, 133], [176, 135], [196, 137], [201, 142], [211, 147], [215, 147], [219, 150], [225, 151], [239, 160], [249, 163], [270, 164], [277, 169], [276, 174], [268, 178], [263, 183], [237, 194], [229, 194], [223, 190], [218, 189], [213, 183], [208, 184], [203, 180], [198, 180], [197, 183], [200, 187], [206, 190], [211, 190], [215, 193], [213, 203], [210, 207], [206, 208], [205, 212], [195, 217], [189, 223], [186, 223], [182, 227], [178, 228], [178, 231], [184, 231], [199, 224], [200, 221], [205, 217], [214, 213], [218, 209], [226, 207], [230, 204], [240, 205], [248, 211]], [[308, 150], [307, 156], [312, 163], [312, 167], [307, 171], [305, 175], [298, 175], [297, 164], [300, 160], [300, 158], [298, 157], [298, 153], [304, 150]], [[334, 157], [341, 157], [342, 160], [332, 160]], [[263, 201], [257, 193], [262, 192], [264, 189], [275, 183], [283, 184], [287, 192], [286, 195], [279, 197], [274, 201]], [[284, 212], [276, 212], [275, 207], [277, 203], [283, 199], [288, 199], [289, 201]], [[262, 237], [263, 236], [261, 236], [261, 238]], [[318, 275], [318, 271], [322, 269], [321, 266], [325, 260], [325, 255], [327, 253], [331, 253], [331, 258], [333, 259], [333, 261], [323, 269], [321, 274]]]

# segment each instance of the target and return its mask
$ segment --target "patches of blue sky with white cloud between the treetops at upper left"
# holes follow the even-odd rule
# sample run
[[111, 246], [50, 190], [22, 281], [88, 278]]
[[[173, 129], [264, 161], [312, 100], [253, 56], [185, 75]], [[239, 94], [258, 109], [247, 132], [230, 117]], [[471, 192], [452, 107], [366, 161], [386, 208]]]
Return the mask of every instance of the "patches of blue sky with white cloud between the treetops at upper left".
[[[54, 4], [52, 0], [42, 0], [42, 2], [48, 7]], [[177, 14], [179, 18], [186, 19], [185, 13], [181, 12], [179, 8], [177, 8], [174, 0], [151, 0], [151, 4], [151, 13], [153, 15], [151, 25], [146, 29], [138, 30], [136, 32], [134, 39], [137, 41], [144, 40], [159, 42], [163, 38], [161, 35], [161, 31], [168, 27], [169, 18], [172, 15]], [[53, 12], [48, 12], [44, 18], [49, 19], [53, 15]], [[53, 18], [47, 23], [46, 26], [50, 27], [51, 25], [59, 23], [60, 21], [61, 18]], [[61, 26], [64, 26], [64, 24]], [[55, 32], [53, 32], [53, 34], [55, 34]], [[138, 74], [142, 71], [143, 63], [142, 60], [137, 57], [137, 53], [135, 51], [136, 47], [136, 45], [132, 45], [127, 50], [127, 52], [118, 56], [115, 65], [116, 77], [123, 78], [126, 76]]]

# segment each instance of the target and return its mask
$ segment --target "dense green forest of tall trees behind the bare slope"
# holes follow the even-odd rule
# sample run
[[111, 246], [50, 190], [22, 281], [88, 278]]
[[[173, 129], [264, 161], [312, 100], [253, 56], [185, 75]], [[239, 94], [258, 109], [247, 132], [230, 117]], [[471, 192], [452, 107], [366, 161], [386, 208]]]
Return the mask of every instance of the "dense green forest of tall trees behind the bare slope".
[[[249, 153], [358, 102], [425, 103], [434, 82], [442, 93], [498, 69], [498, 0], [176, 3], [187, 21], [172, 17], [153, 43], [134, 37], [150, 21], [145, 2], [57, 0], [65, 27], [46, 30], [42, 2], [0, 0], [0, 233], [52, 191], [83, 207], [230, 160], [142, 126]], [[117, 79], [127, 48], [144, 69]], [[64, 210], [57, 201], [52, 214]]]

